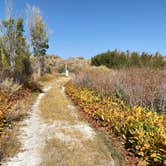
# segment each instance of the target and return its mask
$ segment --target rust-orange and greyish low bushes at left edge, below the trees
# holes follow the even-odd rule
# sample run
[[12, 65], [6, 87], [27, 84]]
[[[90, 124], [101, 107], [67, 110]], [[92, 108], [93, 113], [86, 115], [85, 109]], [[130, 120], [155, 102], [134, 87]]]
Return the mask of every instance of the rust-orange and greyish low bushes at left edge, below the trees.
[[[11, 78], [6, 78], [0, 82], [0, 136], [3, 128], [11, 123], [9, 119], [12, 118], [8, 118], [9, 115], [11, 114], [14, 118], [17, 114], [17, 112], [13, 111], [13, 107], [17, 105], [19, 100], [28, 96], [31, 90], [28, 87], [23, 88]], [[17, 118], [19, 118], [18, 116]]]

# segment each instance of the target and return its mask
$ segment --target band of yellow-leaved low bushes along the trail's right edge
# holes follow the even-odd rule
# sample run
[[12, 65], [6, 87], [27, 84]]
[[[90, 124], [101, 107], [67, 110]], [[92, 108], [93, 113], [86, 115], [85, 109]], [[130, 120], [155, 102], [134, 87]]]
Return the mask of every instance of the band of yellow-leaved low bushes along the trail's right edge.
[[66, 93], [98, 124], [125, 140], [140, 165], [166, 165], [166, 115], [140, 106], [126, 106], [119, 98], [68, 83]]

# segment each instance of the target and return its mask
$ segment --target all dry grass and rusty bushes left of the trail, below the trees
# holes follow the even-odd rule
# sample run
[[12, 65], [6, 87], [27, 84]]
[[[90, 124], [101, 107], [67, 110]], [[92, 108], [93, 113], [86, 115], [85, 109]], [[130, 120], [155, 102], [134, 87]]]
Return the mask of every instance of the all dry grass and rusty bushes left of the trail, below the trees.
[[40, 84], [28, 81], [22, 85], [8, 76], [1, 74], [0, 82], [0, 161], [14, 156], [20, 150], [19, 122], [28, 115], [41, 86], [56, 77], [46, 74], [37, 80]]

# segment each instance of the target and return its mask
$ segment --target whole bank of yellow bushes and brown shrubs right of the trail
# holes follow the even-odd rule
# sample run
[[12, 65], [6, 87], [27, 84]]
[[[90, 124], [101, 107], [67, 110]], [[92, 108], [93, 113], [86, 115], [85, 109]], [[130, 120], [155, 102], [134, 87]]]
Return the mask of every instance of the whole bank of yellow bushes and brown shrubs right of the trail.
[[165, 74], [163, 70], [84, 69], [67, 84], [66, 92], [89, 117], [121, 137], [140, 158], [139, 165], [166, 165]]

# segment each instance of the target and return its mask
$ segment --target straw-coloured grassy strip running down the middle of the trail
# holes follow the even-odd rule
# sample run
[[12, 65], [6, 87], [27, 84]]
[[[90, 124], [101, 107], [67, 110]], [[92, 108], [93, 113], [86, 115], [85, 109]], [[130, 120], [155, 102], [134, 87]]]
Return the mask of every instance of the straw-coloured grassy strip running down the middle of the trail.
[[[57, 81], [41, 100], [40, 115], [52, 127], [48, 131], [49, 138], [46, 139], [40, 166], [111, 165], [111, 144], [95, 131], [91, 139], [85, 139], [82, 130], [75, 129], [79, 124], [86, 124], [81, 120], [76, 108], [73, 109], [77, 116], [71, 114], [68, 107], [71, 102], [61, 89], [67, 81], [68, 78]], [[58, 133], [61, 134], [59, 137]], [[113, 151], [117, 154], [114, 155], [117, 159], [115, 161], [120, 163], [118, 165], [123, 165], [121, 154], [115, 152], [115, 149]]]

